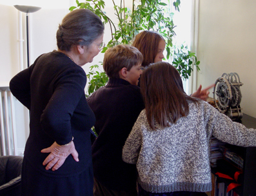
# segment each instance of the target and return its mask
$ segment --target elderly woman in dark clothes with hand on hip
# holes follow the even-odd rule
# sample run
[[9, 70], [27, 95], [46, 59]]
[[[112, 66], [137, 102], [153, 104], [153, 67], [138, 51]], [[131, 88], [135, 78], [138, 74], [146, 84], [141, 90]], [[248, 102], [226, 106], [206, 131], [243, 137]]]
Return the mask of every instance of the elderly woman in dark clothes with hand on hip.
[[83, 66], [103, 47], [104, 26], [90, 10], [67, 14], [58, 50], [15, 75], [10, 90], [30, 110], [22, 171], [23, 195], [93, 195], [90, 128]]

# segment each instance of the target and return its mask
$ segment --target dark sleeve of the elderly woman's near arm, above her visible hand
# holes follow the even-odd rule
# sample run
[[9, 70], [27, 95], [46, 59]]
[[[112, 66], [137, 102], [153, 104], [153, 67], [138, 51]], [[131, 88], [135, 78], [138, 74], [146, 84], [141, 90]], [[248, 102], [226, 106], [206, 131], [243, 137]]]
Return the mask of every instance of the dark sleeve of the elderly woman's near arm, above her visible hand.
[[[71, 68], [64, 72], [41, 115], [41, 126], [57, 144], [72, 140], [71, 118], [84, 95], [86, 74], [82, 69]], [[85, 98], [84, 98], [85, 99]]]

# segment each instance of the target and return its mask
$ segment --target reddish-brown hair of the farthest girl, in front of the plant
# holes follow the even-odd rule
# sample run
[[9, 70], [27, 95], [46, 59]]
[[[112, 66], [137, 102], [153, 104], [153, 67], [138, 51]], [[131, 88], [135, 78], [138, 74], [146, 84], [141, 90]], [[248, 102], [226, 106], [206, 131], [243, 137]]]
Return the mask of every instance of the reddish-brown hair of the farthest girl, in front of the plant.
[[146, 67], [150, 63], [154, 63], [155, 56], [158, 52], [159, 42], [163, 40], [164, 37], [157, 32], [143, 31], [135, 36], [132, 46], [138, 48], [139, 52], [143, 54], [142, 66]]

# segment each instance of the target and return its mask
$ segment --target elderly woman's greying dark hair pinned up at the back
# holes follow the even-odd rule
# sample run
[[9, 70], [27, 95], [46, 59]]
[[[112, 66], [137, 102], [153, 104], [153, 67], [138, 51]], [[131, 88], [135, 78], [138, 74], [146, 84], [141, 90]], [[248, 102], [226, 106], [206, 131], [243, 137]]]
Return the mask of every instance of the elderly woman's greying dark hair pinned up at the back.
[[59, 25], [57, 46], [65, 51], [70, 51], [72, 45], [89, 46], [103, 32], [104, 25], [94, 12], [86, 9], [74, 10]]

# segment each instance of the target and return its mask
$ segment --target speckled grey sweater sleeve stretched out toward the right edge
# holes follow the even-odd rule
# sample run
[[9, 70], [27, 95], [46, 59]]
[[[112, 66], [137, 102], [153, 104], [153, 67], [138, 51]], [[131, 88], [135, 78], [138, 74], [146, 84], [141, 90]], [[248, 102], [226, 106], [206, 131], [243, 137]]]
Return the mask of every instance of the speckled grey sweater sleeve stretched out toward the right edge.
[[[231, 119], [215, 110], [212, 106], [207, 106], [211, 110], [207, 126], [212, 130], [212, 135], [217, 139], [237, 146], [256, 146], [256, 130], [246, 128], [241, 123], [233, 122]], [[210, 109], [209, 109], [210, 108]]]

